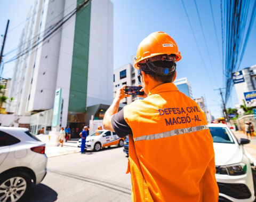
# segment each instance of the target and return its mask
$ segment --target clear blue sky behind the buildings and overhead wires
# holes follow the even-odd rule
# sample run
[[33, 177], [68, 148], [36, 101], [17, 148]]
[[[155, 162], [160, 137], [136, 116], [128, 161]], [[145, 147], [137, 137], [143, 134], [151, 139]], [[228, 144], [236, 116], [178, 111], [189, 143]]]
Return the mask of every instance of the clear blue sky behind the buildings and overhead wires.
[[[33, 2], [34, 0], [0, 0], [0, 35], [4, 35], [7, 19], [10, 19], [4, 54], [17, 48]], [[221, 97], [219, 91], [214, 91], [216, 88], [224, 87], [222, 58], [220, 58], [222, 56], [220, 0], [211, 0], [218, 41], [214, 31], [210, 0], [196, 0], [208, 51], [195, 2], [183, 0], [203, 60], [181, 0], [111, 0], [111, 2], [114, 6], [114, 69], [131, 63], [131, 56], [136, 53], [140, 42], [149, 34], [165, 31], [178, 44], [182, 55], [182, 59], [177, 63], [177, 78], [187, 77], [192, 87], [193, 97], [204, 96], [207, 108], [211, 110], [212, 115], [215, 118], [222, 117]], [[252, 3], [253, 1], [251, 1], [250, 14]], [[256, 64], [255, 22], [239, 69]], [[0, 40], [2, 43], [3, 37], [0, 37]], [[5, 61], [7, 59], [8, 56], [4, 58]], [[14, 62], [5, 64], [4, 78], [12, 77], [13, 67]], [[237, 102], [237, 96], [233, 90], [227, 107], [235, 107]]]

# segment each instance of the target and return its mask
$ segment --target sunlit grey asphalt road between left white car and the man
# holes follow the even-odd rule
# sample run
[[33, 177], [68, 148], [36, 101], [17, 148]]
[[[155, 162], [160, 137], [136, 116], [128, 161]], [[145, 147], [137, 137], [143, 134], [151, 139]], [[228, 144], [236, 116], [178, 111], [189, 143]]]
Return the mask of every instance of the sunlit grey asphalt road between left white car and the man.
[[52, 157], [45, 179], [33, 185], [26, 201], [131, 201], [126, 169], [126, 155], [117, 147]]

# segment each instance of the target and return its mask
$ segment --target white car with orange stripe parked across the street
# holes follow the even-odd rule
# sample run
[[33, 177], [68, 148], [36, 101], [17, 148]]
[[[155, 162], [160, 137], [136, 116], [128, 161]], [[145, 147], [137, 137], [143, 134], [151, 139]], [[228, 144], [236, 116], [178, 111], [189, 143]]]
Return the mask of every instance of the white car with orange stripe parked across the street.
[[[77, 147], [81, 147], [82, 139], [79, 139]], [[85, 149], [90, 149], [94, 151], [99, 151], [102, 147], [109, 147], [112, 145], [118, 145], [123, 147], [124, 139], [119, 138], [115, 132], [108, 130], [100, 130], [87, 136]]]

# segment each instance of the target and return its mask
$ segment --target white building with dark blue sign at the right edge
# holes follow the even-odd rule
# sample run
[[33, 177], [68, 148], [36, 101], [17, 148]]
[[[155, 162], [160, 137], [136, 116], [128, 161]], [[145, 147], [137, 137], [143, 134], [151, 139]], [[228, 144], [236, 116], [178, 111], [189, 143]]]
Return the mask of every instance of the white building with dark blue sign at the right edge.
[[239, 106], [244, 105], [244, 93], [256, 90], [256, 65], [233, 72]]

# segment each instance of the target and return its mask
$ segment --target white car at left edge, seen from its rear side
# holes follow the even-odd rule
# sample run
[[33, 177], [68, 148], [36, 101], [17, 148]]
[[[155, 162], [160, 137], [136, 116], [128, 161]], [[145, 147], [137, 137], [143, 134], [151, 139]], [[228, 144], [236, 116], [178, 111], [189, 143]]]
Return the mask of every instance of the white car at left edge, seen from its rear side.
[[0, 201], [26, 197], [31, 183], [39, 184], [46, 175], [45, 143], [27, 128], [0, 126]]

